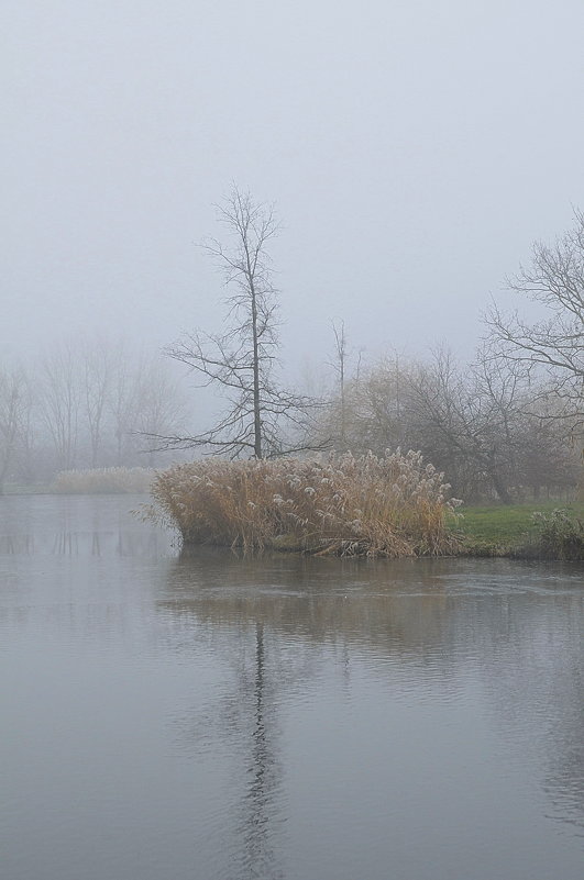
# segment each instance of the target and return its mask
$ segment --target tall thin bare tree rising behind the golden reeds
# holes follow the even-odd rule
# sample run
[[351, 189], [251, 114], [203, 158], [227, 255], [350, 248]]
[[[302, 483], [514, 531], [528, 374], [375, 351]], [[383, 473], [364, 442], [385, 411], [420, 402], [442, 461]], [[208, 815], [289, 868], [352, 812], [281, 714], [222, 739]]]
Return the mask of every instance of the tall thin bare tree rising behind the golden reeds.
[[[208, 447], [238, 457], [265, 458], [305, 448], [311, 401], [287, 391], [277, 380], [278, 293], [273, 285], [268, 245], [278, 233], [274, 210], [234, 187], [219, 207], [229, 243], [210, 238], [205, 250], [224, 276], [229, 328], [222, 334], [196, 331], [166, 349], [198, 374], [200, 383], [218, 386], [227, 412], [194, 436], [151, 435], [161, 448]], [[286, 443], [285, 434], [288, 433]]]

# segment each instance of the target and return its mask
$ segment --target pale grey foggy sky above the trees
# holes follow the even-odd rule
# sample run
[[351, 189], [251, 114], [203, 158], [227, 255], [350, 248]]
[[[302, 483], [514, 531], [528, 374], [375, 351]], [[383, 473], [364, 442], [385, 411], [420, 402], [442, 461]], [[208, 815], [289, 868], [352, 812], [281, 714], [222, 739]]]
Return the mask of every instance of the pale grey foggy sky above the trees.
[[220, 328], [195, 242], [275, 201], [284, 355], [467, 355], [584, 207], [583, 0], [3, 0], [4, 353]]

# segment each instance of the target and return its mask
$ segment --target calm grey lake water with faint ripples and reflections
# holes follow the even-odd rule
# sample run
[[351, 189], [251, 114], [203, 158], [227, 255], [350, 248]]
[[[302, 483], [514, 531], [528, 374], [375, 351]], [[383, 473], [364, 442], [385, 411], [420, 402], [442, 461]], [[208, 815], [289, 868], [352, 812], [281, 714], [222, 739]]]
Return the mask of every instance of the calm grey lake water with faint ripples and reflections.
[[7, 880], [582, 880], [584, 568], [0, 499]]

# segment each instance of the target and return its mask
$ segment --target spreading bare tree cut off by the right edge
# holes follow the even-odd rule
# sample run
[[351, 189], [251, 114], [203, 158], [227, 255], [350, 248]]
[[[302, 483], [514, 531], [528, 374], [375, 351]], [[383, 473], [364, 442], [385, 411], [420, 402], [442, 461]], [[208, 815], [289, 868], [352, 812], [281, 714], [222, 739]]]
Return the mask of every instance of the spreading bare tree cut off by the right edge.
[[546, 393], [561, 402], [554, 416], [584, 424], [584, 214], [553, 245], [533, 245], [531, 265], [521, 266], [508, 287], [542, 303], [547, 316], [529, 323], [517, 311], [494, 304], [486, 316], [495, 356], [522, 365], [544, 380]]

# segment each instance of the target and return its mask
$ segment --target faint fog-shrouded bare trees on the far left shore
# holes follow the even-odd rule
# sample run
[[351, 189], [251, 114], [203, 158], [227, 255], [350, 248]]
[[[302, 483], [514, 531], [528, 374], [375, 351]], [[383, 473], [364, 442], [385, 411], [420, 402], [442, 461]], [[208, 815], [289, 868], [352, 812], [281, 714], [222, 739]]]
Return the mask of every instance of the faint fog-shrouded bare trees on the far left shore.
[[146, 435], [179, 431], [187, 397], [168, 361], [99, 339], [0, 364], [0, 491], [74, 468], [161, 466]]

